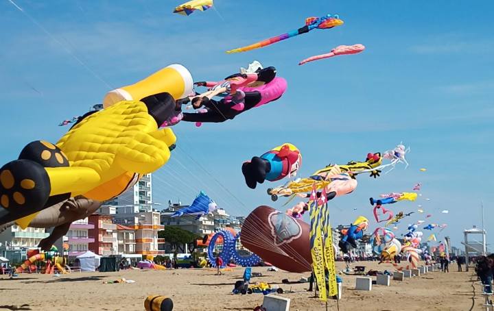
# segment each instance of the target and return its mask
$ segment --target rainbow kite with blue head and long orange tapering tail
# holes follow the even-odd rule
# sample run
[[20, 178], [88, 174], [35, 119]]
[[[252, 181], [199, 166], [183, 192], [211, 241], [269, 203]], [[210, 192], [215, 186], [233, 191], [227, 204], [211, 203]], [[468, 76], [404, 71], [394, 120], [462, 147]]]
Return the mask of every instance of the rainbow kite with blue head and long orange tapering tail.
[[298, 36], [299, 34], [305, 34], [307, 32], [310, 32], [312, 29], [329, 29], [340, 25], [343, 25], [343, 21], [340, 19], [338, 15], [327, 14], [326, 16], [322, 16], [319, 18], [309, 17], [305, 20], [304, 27], [298, 28], [292, 32], [287, 32], [286, 34], [282, 34], [280, 36], [262, 40], [261, 42], [254, 43], [253, 45], [248, 45], [246, 47], [239, 47], [238, 49], [229, 50], [226, 51], [226, 53], [232, 54], [232, 53], [250, 51], [253, 49], [259, 49], [261, 47], [272, 45], [281, 40]]

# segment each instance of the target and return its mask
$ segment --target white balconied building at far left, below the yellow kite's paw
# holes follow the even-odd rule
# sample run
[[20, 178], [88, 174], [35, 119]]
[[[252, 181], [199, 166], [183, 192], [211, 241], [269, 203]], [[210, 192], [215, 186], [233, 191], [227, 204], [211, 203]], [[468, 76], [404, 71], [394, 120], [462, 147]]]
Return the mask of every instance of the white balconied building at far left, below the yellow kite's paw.
[[12, 225], [0, 233], [0, 243], [14, 248], [36, 248], [43, 238], [49, 236], [44, 228], [27, 227], [21, 229], [18, 225]]

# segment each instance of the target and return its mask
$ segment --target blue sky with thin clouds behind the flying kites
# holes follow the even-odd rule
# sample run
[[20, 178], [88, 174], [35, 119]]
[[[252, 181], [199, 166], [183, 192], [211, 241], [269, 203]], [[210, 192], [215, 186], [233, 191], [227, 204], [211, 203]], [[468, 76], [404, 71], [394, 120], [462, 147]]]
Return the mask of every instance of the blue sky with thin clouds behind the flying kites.
[[[67, 130], [60, 121], [168, 64], [184, 64], [200, 81], [259, 60], [287, 79], [285, 95], [223, 124], [174, 127], [179, 148], [155, 174], [155, 201], [186, 203], [204, 189], [231, 214], [263, 204], [285, 209], [284, 200], [272, 203], [266, 195], [277, 183], [245, 186], [244, 160], [292, 142], [303, 153], [300, 176], [306, 176], [403, 140], [412, 148], [408, 169], [398, 166], [379, 179], [360, 176], [353, 194], [331, 202], [333, 225], [360, 214], [371, 219], [368, 197], [422, 182], [422, 198], [430, 201], [392, 210], [416, 212], [423, 205], [433, 214], [430, 222], [449, 225], [443, 234], [458, 246], [462, 229], [480, 227], [483, 200], [494, 238], [494, 21], [486, 14], [494, 10], [492, 1], [216, 0], [215, 10], [191, 16], [172, 14], [180, 1], [170, 0], [15, 3], [27, 15], [0, 1], [1, 163], [32, 140], [56, 142]], [[340, 14], [345, 24], [248, 53], [224, 53], [327, 13]], [[297, 66], [356, 43], [366, 51]], [[440, 214], [444, 209], [449, 214]], [[402, 221], [399, 232], [418, 219], [416, 213]]]

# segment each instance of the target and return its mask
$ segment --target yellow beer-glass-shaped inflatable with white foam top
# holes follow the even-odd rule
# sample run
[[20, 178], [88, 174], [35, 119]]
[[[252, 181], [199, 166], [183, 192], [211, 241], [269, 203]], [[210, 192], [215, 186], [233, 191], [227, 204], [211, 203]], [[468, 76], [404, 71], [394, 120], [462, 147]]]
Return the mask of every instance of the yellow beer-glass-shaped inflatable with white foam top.
[[192, 91], [191, 73], [180, 64], [172, 64], [135, 84], [110, 90], [103, 99], [103, 107], [108, 108], [119, 101], [139, 101], [162, 92], [169, 92], [174, 99], [180, 99]]

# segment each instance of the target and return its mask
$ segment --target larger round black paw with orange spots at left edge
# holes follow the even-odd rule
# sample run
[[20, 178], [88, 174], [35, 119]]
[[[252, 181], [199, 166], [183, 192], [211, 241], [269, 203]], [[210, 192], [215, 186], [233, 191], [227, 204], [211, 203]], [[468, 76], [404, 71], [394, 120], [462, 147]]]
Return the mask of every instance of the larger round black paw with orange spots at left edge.
[[[16, 219], [39, 211], [49, 198], [50, 179], [32, 160], [15, 160], [0, 169], [0, 206]], [[20, 210], [24, 208], [24, 210]]]

